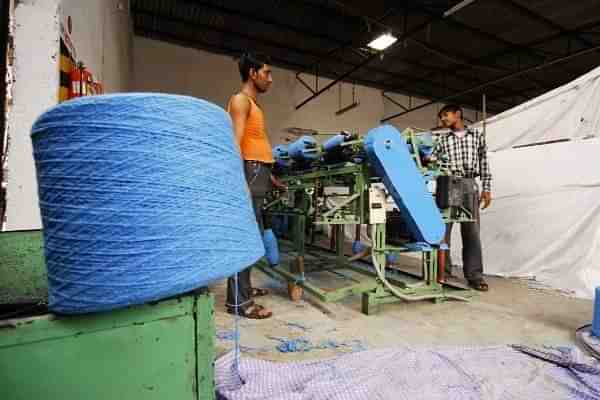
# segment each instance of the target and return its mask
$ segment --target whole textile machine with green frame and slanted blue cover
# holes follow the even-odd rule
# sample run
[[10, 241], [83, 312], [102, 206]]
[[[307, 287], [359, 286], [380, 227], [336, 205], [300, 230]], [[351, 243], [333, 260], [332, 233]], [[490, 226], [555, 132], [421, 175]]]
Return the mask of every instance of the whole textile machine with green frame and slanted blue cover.
[[[443, 240], [445, 223], [471, 221], [472, 213], [465, 207], [460, 178], [449, 175], [444, 160], [431, 157], [433, 146], [431, 133], [400, 133], [392, 126], [364, 137], [342, 132], [318, 143], [302, 136], [276, 146], [274, 173], [287, 188], [273, 191], [265, 215], [283, 239], [287, 258], [261, 269], [286, 281], [290, 292], [300, 287], [321, 301], [361, 294], [365, 314], [400, 300], [468, 300], [470, 292], [445, 277]], [[355, 231], [350, 257], [347, 227]], [[365, 228], [370, 246], [360, 241]], [[325, 251], [318, 245], [328, 229]], [[421, 271], [411, 283], [393, 268], [399, 254], [408, 252], [421, 254]], [[368, 253], [372, 262], [361, 262]], [[311, 275], [324, 271], [352, 284], [319, 287]]]

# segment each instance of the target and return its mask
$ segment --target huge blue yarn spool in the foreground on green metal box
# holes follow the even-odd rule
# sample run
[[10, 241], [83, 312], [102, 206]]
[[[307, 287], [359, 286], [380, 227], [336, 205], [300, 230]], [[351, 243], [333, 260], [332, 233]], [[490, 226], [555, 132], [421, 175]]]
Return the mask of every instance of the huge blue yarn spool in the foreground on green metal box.
[[54, 312], [181, 294], [264, 254], [231, 120], [211, 103], [82, 98], [43, 114], [32, 141]]

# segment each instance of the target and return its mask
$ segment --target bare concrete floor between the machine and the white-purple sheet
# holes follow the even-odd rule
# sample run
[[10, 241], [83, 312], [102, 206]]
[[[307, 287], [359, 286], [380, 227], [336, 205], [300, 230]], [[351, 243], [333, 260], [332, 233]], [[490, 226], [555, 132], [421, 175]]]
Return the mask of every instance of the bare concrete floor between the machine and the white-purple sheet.
[[[255, 270], [254, 286], [271, 290], [257, 302], [274, 315], [266, 320], [240, 320], [243, 356], [291, 361], [394, 345], [569, 345], [574, 344], [575, 329], [591, 321], [589, 300], [530, 289], [523, 280], [488, 277], [487, 281], [490, 291], [469, 303], [392, 303], [381, 306], [377, 315], [367, 316], [360, 312], [359, 296], [323, 304], [305, 292], [302, 300], [292, 302], [287, 287]], [[225, 288], [225, 282], [212, 287], [218, 354], [233, 346], [234, 319], [224, 309]], [[329, 346], [282, 353], [276, 348], [280, 344], [276, 338], [305, 338]], [[332, 340], [339, 346], [332, 348]]]

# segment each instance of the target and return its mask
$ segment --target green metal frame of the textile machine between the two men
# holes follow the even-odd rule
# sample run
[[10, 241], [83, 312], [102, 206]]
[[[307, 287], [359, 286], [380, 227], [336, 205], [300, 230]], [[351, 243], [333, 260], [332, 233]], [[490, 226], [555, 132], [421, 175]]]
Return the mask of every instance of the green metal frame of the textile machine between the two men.
[[[435, 177], [443, 174], [442, 168], [425, 167], [418, 156], [418, 135], [412, 130], [403, 134], [414, 148], [415, 162], [423, 175]], [[362, 140], [346, 142], [344, 146], [352, 146], [356, 152], [362, 147]], [[373, 176], [367, 163], [342, 163], [319, 165], [308, 171], [291, 173], [281, 177], [288, 186], [287, 191], [278, 192], [265, 205], [265, 214], [270, 217], [287, 217], [290, 221], [288, 235], [281, 241], [281, 246], [288, 253], [288, 262], [271, 267], [262, 262], [259, 268], [274, 279], [282, 280], [290, 285], [300, 286], [323, 302], [335, 302], [349, 295], [362, 295], [362, 311], [365, 314], [377, 312], [379, 305], [397, 301], [446, 299], [468, 301], [472, 292], [464, 285], [438, 279], [439, 248], [416, 243], [391, 245], [386, 240], [386, 224], [370, 224], [369, 190], [371, 184], [381, 183], [381, 179]], [[345, 187], [347, 193], [344, 200], [336, 206], [321, 211], [324, 188]], [[441, 210], [445, 222], [472, 221], [466, 209]], [[452, 217], [451, 217], [452, 216]], [[345, 225], [362, 224], [370, 226], [372, 263], [366, 265], [354, 257], [346, 257]], [[332, 238], [330, 249], [324, 250], [315, 246], [315, 231], [320, 226], [330, 225]], [[308, 229], [307, 229], [308, 228]], [[307, 239], [310, 237], [310, 243]], [[421, 253], [421, 273], [419, 281], [413, 284], [399, 279], [395, 272], [387, 268], [387, 257], [392, 254]], [[318, 254], [317, 254], [318, 253]], [[333, 254], [331, 254], [333, 253]], [[306, 255], [314, 254], [326, 260], [326, 265], [308, 265]], [[357, 272], [363, 279], [342, 288], [331, 289], [319, 287], [309, 275], [315, 271], [337, 273], [340, 270]]]

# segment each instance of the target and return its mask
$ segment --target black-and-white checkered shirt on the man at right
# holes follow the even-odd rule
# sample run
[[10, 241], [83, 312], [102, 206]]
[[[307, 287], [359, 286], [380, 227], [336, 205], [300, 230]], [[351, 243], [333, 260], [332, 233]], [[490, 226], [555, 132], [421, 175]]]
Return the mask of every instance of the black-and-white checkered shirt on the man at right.
[[492, 190], [492, 174], [483, 133], [467, 128], [462, 138], [452, 132], [442, 134], [438, 137], [433, 155], [448, 164], [452, 175], [463, 178], [479, 177], [483, 191]]

